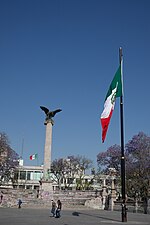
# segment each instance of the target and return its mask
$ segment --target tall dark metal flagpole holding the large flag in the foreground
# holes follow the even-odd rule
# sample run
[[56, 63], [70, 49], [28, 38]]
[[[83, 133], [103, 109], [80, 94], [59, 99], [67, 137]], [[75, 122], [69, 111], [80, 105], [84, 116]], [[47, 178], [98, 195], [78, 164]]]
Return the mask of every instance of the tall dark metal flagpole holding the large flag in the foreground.
[[125, 190], [125, 154], [124, 154], [124, 125], [123, 125], [123, 77], [122, 77], [122, 48], [119, 48], [121, 67], [122, 95], [120, 96], [120, 125], [121, 125], [121, 192], [122, 192], [122, 222], [127, 222], [126, 190]]

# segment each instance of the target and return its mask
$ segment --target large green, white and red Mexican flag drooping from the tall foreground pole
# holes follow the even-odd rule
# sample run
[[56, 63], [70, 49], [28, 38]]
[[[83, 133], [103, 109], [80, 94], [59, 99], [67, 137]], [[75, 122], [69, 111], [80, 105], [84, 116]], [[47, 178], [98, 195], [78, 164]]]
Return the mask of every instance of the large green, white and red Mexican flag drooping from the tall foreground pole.
[[109, 90], [105, 98], [104, 110], [101, 114], [102, 142], [105, 141], [109, 122], [115, 107], [115, 100], [117, 97], [120, 97], [120, 96], [122, 96], [121, 65], [119, 66], [110, 84]]

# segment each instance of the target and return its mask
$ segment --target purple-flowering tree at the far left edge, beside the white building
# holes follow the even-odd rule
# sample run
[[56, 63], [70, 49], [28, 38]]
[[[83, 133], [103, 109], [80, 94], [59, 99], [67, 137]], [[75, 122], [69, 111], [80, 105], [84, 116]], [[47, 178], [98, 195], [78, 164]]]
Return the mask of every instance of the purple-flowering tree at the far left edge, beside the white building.
[[10, 147], [7, 135], [0, 133], [0, 185], [13, 181], [17, 166], [18, 154]]

